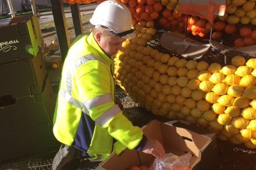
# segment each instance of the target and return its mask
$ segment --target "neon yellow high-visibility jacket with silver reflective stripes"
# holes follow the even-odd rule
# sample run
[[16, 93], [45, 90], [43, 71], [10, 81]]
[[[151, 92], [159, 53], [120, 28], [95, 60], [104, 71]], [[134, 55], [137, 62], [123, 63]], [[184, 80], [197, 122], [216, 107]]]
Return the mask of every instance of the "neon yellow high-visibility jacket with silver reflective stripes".
[[113, 60], [102, 51], [92, 33], [80, 37], [70, 47], [63, 65], [53, 121], [53, 133], [58, 141], [73, 144], [84, 112], [96, 122], [90, 146], [83, 148], [88, 154], [111, 153], [113, 137], [120, 142], [116, 146], [129, 149], [140, 143], [142, 130], [134, 127], [115, 105], [111, 65]]

